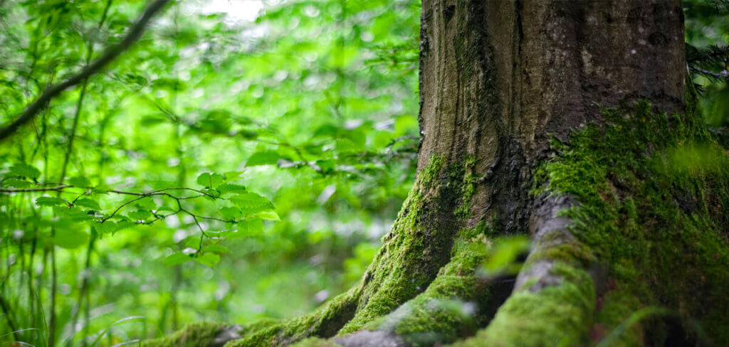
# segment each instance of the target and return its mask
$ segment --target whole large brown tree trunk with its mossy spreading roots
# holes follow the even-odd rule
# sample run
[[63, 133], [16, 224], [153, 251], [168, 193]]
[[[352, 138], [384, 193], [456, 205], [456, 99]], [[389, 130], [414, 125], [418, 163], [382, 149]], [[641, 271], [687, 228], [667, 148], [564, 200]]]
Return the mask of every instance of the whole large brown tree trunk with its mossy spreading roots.
[[683, 47], [680, 0], [424, 0], [418, 175], [361, 284], [149, 346], [728, 346], [729, 159]]

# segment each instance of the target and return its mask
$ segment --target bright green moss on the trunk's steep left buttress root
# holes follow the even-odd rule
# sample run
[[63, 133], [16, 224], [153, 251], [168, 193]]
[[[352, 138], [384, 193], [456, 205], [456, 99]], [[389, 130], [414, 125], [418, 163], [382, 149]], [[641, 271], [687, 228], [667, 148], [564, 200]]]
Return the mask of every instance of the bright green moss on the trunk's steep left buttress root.
[[[462, 169], [461, 169], [462, 172]], [[439, 156], [418, 173], [383, 247], [364, 274], [354, 319], [340, 334], [362, 329], [423, 292], [448, 262], [456, 226], [451, 220], [460, 191], [453, 167]]]

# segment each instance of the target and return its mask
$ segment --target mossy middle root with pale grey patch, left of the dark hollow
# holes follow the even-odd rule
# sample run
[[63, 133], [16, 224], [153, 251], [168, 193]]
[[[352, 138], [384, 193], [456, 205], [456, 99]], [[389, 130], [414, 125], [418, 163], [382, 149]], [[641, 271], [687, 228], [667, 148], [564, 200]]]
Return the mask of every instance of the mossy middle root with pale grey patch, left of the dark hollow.
[[451, 250], [451, 262], [440, 269], [425, 292], [366, 324], [364, 330], [334, 342], [342, 346], [438, 346], [475, 334], [509, 295], [513, 283], [513, 279], [477, 273], [491, 247], [486, 234], [483, 225], [461, 231]]

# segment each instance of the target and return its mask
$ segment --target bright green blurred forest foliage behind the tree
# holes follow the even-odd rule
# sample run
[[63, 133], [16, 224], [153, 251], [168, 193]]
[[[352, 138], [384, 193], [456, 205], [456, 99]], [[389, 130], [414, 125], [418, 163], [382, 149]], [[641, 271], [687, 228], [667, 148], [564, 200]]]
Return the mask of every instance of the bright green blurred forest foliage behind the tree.
[[[0, 0], [0, 124], [145, 4]], [[729, 42], [722, 2], [685, 14], [696, 52]], [[0, 344], [290, 318], [359, 281], [413, 183], [419, 15], [417, 0], [173, 2], [1, 144]], [[701, 70], [726, 62], [697, 62], [720, 129], [726, 79]]]

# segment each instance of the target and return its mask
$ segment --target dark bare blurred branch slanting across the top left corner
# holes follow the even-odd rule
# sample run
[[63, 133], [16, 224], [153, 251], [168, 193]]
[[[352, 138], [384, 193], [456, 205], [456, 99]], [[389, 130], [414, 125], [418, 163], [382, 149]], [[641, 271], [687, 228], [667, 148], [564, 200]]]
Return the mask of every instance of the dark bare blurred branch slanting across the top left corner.
[[165, 4], [167, 4], [168, 2], [169, 0], [153, 0], [147, 6], [147, 8], [144, 9], [144, 12], [139, 17], [139, 20], [137, 20], [132, 28], [130, 28], [127, 36], [125, 36], [125, 38], [119, 44], [115, 44], [114, 46], [106, 49], [104, 54], [101, 55], [98, 60], [95, 60], [90, 65], [87, 65], [85, 68], [82, 69], [82, 71], [80, 71], [76, 75], [69, 77], [69, 79], [66, 79], [63, 82], [56, 84], [49, 89], [46, 89], [46, 91], [43, 92], [40, 97], [38, 97], [33, 103], [31, 103], [31, 105], [28, 105], [28, 107], [26, 107], [23, 113], [20, 113], [20, 116], [18, 116], [15, 121], [12, 121], [12, 123], [0, 129], [0, 140], [4, 140], [6, 137], [9, 137], [9, 135], [12, 135], [12, 133], [17, 131], [17, 129], [23, 126], [23, 124], [31, 121], [31, 119], [33, 119], [45, 107], [45, 105], [50, 102], [52, 98], [57, 97], [64, 90], [76, 86], [88, 77], [99, 73], [101, 69], [111, 63], [112, 60], [119, 57], [122, 52], [131, 47], [134, 42], [139, 40], [141, 34], [144, 33], [144, 29], [147, 27], [147, 23], [149, 23], [149, 20], [152, 20], [152, 17], [154, 17], [157, 12], [160, 12], [160, 9], [165, 7]]

